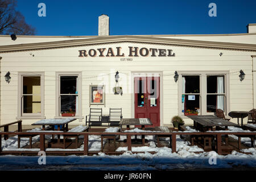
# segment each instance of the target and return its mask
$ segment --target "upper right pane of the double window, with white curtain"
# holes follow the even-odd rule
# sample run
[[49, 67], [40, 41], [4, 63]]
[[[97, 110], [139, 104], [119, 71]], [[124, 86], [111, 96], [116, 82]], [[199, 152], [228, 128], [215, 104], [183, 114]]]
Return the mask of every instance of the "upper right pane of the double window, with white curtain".
[[225, 93], [224, 76], [207, 76], [207, 93]]

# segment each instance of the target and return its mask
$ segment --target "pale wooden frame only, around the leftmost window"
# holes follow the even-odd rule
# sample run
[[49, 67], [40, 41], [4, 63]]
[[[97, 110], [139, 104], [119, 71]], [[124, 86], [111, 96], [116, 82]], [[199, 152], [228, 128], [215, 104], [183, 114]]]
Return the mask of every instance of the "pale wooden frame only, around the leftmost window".
[[[23, 113], [23, 77], [39, 76], [41, 92], [41, 113]], [[18, 72], [18, 117], [16, 119], [44, 119], [44, 72]]]

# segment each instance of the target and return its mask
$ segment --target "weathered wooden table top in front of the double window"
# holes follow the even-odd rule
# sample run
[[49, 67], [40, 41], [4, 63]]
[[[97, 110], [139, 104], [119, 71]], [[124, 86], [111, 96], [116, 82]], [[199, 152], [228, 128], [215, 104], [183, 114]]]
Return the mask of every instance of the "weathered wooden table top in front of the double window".
[[236, 123], [226, 121], [225, 119], [218, 118], [215, 115], [188, 115], [187, 117], [200, 125], [206, 126], [238, 126]]

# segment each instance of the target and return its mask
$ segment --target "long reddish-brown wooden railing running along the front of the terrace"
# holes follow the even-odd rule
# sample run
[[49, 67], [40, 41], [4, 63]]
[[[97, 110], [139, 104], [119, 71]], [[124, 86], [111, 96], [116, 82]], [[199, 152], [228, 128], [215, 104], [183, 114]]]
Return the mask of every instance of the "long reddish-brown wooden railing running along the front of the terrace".
[[[216, 137], [217, 141], [217, 153], [222, 153], [222, 146], [221, 146], [221, 135], [237, 135], [238, 137], [242, 135], [251, 135], [254, 137], [256, 136], [256, 132], [171, 132], [171, 133], [160, 133], [160, 132], [143, 132], [143, 133], [133, 133], [133, 132], [115, 132], [115, 133], [106, 133], [106, 132], [64, 132], [64, 133], [58, 133], [58, 132], [1, 132], [0, 138], [2, 138], [2, 135], [40, 135], [40, 151], [46, 151], [46, 145], [45, 145], [45, 135], [84, 135], [84, 150], [83, 151], [48, 151], [48, 153], [62, 153], [62, 154], [68, 154], [68, 153], [77, 153], [77, 154], [83, 154], [88, 155], [89, 148], [88, 148], [88, 136], [89, 135], [102, 135], [102, 134], [111, 134], [111, 135], [126, 135], [127, 136], [127, 150], [131, 151], [131, 135], [165, 135], [170, 136], [170, 144], [172, 148], [172, 152], [176, 152], [176, 135], [212, 135], [213, 137]], [[35, 151], [34, 151], [35, 152]], [[98, 151], [99, 152], [99, 151]], [[13, 153], [33, 153], [33, 151], [28, 150], [22, 150], [22, 151], [2, 151], [2, 139], [0, 140], [0, 154], [13, 154]], [[115, 152], [117, 153], [117, 152]]]

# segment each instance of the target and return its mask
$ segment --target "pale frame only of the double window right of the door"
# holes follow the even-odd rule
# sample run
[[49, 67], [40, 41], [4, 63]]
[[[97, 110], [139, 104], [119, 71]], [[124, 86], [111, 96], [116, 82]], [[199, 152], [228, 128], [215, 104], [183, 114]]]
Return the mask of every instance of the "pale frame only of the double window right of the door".
[[200, 113], [199, 115], [213, 115], [213, 113], [207, 113], [207, 76], [224, 76], [224, 90], [225, 90], [225, 99], [224, 99], [224, 114], [227, 115], [230, 111], [230, 89], [229, 89], [229, 71], [178, 71], [180, 79], [178, 82], [178, 115], [183, 118], [187, 116], [182, 113], [182, 76], [200, 76]]

